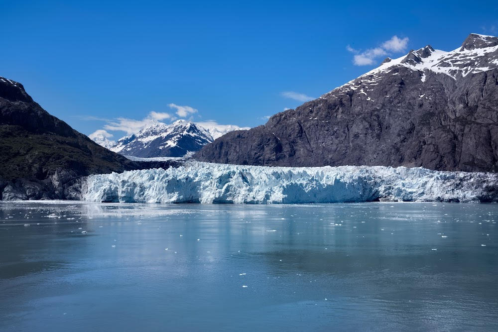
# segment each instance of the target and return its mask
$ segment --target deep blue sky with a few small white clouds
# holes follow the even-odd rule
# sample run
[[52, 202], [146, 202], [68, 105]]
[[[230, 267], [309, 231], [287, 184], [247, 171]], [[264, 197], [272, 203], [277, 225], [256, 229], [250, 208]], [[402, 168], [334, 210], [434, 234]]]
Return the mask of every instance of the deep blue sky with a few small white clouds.
[[334, 2], [0, 0], [0, 76], [118, 139], [152, 119], [257, 126], [387, 56], [498, 35], [498, 1]]

